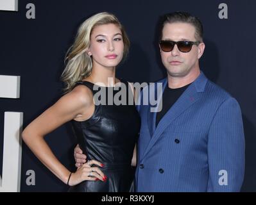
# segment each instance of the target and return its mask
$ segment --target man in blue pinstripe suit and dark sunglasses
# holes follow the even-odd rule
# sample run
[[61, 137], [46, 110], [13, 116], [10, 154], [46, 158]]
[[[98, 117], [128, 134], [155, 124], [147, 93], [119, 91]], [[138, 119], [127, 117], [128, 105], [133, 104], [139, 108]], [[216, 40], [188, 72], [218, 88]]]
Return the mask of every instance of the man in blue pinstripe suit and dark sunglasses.
[[[239, 192], [244, 177], [241, 110], [200, 71], [205, 49], [200, 20], [185, 12], [164, 15], [159, 47], [167, 78], [157, 82], [162, 83], [160, 95], [157, 83], [144, 88], [137, 106], [136, 191]], [[143, 96], [147, 89], [155, 95]], [[155, 112], [143, 100], [157, 96], [162, 103]]]

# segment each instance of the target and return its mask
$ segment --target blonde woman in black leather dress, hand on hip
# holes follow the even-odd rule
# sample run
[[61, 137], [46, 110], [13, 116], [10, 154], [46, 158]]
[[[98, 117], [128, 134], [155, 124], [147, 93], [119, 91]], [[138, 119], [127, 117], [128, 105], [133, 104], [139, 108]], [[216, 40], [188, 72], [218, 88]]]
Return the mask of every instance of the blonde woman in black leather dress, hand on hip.
[[[134, 174], [131, 162], [141, 123], [139, 113], [134, 104], [104, 105], [95, 103], [94, 98], [97, 90], [104, 88], [108, 102], [114, 96], [108, 94], [118, 92], [121, 85], [126, 94], [131, 93], [128, 82], [115, 78], [116, 66], [128, 54], [129, 45], [123, 26], [113, 14], [98, 13], [85, 20], [67, 53], [62, 74], [65, 94], [22, 133], [31, 151], [71, 186], [70, 191], [130, 191]], [[44, 140], [45, 135], [69, 121], [87, 155], [86, 163], [74, 173], [58, 161]]]

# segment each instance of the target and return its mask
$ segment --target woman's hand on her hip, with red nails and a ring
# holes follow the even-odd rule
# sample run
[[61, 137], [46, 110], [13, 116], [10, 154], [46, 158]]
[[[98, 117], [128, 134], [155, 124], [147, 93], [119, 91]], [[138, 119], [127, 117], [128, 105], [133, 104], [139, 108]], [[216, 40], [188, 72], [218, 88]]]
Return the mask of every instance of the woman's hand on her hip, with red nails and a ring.
[[76, 184], [81, 183], [82, 181], [106, 181], [107, 176], [101, 172], [98, 167], [91, 167], [92, 165], [98, 165], [99, 167], [103, 167], [103, 164], [99, 163], [96, 160], [87, 161], [81, 167], [79, 167], [76, 172], [71, 174], [69, 179], [69, 186], [74, 186]]

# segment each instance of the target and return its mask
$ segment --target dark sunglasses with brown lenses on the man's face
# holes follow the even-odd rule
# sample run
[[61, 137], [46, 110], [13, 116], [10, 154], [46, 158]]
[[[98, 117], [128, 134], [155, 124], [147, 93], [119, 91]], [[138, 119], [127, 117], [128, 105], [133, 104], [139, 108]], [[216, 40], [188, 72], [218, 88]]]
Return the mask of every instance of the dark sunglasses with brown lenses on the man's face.
[[173, 51], [175, 44], [177, 45], [178, 50], [180, 52], [187, 53], [187, 52], [191, 51], [193, 45], [199, 45], [200, 42], [187, 41], [187, 40], [181, 40], [181, 41], [160, 40], [160, 42], [159, 42], [160, 48], [164, 52]]

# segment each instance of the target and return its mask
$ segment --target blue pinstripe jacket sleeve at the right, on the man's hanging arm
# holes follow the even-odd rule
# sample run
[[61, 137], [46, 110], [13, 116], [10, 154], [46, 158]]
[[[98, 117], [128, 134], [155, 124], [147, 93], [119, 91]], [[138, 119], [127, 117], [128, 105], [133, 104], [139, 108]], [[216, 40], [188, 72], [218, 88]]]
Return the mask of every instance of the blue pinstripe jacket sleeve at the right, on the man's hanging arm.
[[219, 106], [209, 129], [207, 192], [239, 192], [244, 179], [244, 155], [241, 109], [230, 97]]

